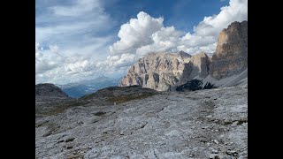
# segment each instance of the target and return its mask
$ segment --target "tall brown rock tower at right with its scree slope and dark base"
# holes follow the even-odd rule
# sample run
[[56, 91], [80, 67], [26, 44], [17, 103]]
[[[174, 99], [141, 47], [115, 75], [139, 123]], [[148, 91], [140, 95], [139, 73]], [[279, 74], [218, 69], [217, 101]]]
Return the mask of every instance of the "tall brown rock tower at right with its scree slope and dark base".
[[233, 22], [218, 36], [216, 52], [210, 58], [210, 73], [176, 87], [178, 91], [212, 87], [248, 86], [248, 21]]

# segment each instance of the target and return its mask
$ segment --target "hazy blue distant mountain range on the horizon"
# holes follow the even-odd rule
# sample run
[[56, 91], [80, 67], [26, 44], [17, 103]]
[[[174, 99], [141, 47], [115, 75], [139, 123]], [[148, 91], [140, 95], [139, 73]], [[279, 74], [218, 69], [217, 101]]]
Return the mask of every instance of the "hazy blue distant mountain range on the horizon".
[[67, 95], [73, 98], [79, 98], [83, 95], [95, 93], [103, 87], [117, 86], [119, 79], [112, 79], [104, 75], [96, 79], [81, 80], [80, 82], [58, 85]]

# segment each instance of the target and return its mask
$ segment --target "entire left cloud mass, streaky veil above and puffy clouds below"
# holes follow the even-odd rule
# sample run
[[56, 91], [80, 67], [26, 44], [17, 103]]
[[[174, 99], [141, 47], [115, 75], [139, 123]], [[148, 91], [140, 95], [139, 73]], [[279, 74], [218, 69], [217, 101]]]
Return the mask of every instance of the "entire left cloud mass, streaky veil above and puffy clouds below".
[[42, 11], [35, 16], [35, 83], [68, 83], [101, 72], [96, 61], [108, 56], [114, 39], [100, 35], [114, 24], [101, 2], [36, 2]]

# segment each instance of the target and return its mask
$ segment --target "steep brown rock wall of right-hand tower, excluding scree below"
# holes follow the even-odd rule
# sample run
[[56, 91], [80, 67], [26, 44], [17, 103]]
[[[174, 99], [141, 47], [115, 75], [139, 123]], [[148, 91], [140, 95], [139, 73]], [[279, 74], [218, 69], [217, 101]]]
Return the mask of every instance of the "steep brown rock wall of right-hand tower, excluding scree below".
[[233, 22], [218, 36], [218, 45], [211, 58], [210, 74], [223, 79], [248, 68], [248, 21]]

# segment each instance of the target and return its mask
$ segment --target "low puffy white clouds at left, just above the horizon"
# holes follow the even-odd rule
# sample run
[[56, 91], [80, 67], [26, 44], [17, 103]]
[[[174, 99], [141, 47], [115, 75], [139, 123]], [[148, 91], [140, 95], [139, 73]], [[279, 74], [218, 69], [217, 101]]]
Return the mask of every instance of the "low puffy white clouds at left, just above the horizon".
[[62, 54], [57, 45], [50, 45], [49, 49], [39, 48], [40, 44], [35, 43], [36, 83], [71, 82], [99, 72], [96, 60], [91, 57]]

